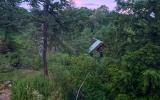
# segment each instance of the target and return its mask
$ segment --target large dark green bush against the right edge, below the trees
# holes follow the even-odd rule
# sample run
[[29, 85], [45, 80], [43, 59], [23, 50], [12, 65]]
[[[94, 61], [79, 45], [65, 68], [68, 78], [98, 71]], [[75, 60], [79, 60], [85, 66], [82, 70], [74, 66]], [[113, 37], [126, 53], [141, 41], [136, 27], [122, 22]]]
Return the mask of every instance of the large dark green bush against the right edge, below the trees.
[[160, 46], [151, 43], [124, 56], [123, 69], [131, 73], [130, 86], [135, 96], [159, 95], [159, 59]]

